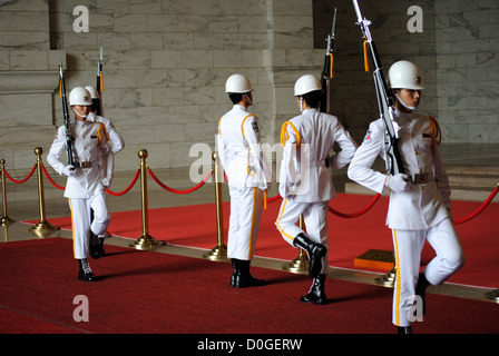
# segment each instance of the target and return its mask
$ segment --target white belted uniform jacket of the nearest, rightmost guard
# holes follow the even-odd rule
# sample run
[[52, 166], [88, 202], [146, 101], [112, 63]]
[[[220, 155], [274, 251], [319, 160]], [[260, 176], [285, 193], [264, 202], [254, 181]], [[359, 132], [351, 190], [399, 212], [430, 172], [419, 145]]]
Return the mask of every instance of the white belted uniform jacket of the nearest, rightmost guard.
[[[434, 119], [395, 110], [401, 126], [399, 150], [408, 176], [431, 174], [427, 184], [412, 184], [402, 192], [391, 191], [387, 225], [392, 229], [428, 229], [450, 215], [450, 188], [446, 169], [436, 145]], [[382, 119], [371, 122], [364, 141], [349, 167], [349, 178], [383, 192], [387, 176], [371, 169], [380, 155], [387, 160], [385, 127]]]

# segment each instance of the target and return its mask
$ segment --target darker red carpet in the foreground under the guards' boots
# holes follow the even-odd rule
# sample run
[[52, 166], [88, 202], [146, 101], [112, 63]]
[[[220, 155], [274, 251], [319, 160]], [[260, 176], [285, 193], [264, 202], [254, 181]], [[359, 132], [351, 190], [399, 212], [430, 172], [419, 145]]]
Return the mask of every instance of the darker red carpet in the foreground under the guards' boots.
[[[76, 278], [69, 239], [0, 244], [0, 333], [394, 332], [388, 288], [329, 279], [332, 303], [306, 305], [299, 301], [310, 284], [303, 275], [254, 268], [270, 285], [234, 289], [227, 286], [228, 264], [112, 246], [107, 251], [108, 257], [91, 260], [102, 280], [89, 284]], [[74, 320], [79, 295], [88, 298], [89, 322]], [[437, 295], [427, 299], [429, 313], [414, 325], [417, 333], [499, 332], [495, 304]]]

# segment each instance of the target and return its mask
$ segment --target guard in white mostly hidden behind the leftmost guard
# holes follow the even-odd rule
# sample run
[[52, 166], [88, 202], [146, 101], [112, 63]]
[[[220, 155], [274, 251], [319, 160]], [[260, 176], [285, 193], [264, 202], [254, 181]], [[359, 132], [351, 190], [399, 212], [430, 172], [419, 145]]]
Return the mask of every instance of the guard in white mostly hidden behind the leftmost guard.
[[[88, 121], [96, 121], [96, 122], [102, 122], [106, 127], [106, 132], [108, 135], [108, 144], [107, 150], [101, 150], [102, 152], [102, 166], [100, 167], [100, 172], [102, 175], [102, 186], [105, 188], [109, 188], [112, 182], [112, 176], [115, 172], [115, 156], [121, 151], [125, 148], [125, 141], [123, 140], [121, 136], [119, 135], [118, 130], [116, 130], [112, 122], [100, 115], [97, 115], [97, 108], [96, 106], [100, 106], [100, 96], [96, 88], [88, 86], [85, 87], [85, 89], [90, 92], [92, 106], [90, 109], [90, 112], [88, 113], [87, 120]], [[104, 240], [106, 238], [106, 233], [99, 235], [99, 247], [100, 247], [100, 256], [105, 256], [106, 251], [104, 250]]]

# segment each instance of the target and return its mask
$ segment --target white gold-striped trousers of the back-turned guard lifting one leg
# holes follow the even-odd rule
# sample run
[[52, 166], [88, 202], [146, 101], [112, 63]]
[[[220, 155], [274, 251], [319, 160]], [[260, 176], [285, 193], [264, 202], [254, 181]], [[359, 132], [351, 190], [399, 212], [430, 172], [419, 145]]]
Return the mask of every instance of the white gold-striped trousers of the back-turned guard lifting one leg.
[[[300, 216], [303, 215], [306, 229], [305, 234], [312, 241], [322, 244], [327, 248], [327, 210], [329, 201], [302, 202], [284, 199], [275, 225], [284, 240], [296, 248], [293, 245], [294, 238], [305, 233], [296, 225]], [[327, 274], [327, 271], [329, 259], [326, 254], [322, 259], [321, 274]]]

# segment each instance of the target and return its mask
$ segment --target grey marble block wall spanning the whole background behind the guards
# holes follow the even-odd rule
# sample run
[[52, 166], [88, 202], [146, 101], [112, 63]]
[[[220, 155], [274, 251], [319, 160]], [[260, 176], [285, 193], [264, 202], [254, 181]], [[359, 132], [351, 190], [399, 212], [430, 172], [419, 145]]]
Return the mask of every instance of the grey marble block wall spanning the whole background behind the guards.
[[[499, 142], [498, 1], [360, 3], [384, 68], [409, 59], [424, 69], [421, 111], [439, 118], [444, 141]], [[413, 4], [423, 10], [422, 32], [408, 31]], [[88, 32], [74, 28], [79, 6], [88, 9]], [[360, 141], [378, 115], [372, 75], [363, 70], [351, 1], [334, 6], [333, 113]], [[199, 142], [214, 147], [217, 121], [231, 108], [224, 83], [234, 72], [251, 78], [251, 110], [272, 146], [282, 122], [297, 113], [294, 81], [321, 72], [331, 18], [326, 0], [0, 1], [0, 157], [22, 176], [35, 147], [48, 151], [62, 125], [58, 58], [68, 90], [95, 85], [99, 43], [104, 113], [126, 141], [117, 170], [135, 170], [141, 148], [153, 169], [198, 160], [190, 150]]]

